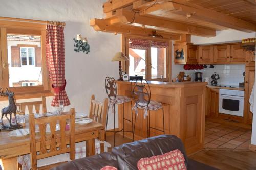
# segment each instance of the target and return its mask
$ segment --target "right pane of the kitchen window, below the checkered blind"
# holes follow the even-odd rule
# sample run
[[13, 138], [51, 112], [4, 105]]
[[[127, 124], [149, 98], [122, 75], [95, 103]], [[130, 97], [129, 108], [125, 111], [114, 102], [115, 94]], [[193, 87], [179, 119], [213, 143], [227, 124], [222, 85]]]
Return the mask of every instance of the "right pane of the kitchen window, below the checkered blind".
[[151, 78], [166, 78], [165, 48], [151, 48]]

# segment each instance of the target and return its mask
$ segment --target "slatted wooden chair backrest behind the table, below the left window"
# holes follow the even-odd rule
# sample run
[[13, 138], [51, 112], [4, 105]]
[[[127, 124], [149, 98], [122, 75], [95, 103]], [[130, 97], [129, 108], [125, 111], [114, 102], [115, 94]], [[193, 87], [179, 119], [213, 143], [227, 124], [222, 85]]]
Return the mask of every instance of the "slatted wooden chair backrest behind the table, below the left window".
[[32, 102], [20, 102], [16, 104], [20, 106], [20, 111], [25, 113], [26, 106], [28, 107], [29, 114], [33, 113], [33, 106], [35, 107], [35, 112], [40, 112], [40, 105], [42, 105], [42, 113], [46, 113], [46, 97], [43, 96], [41, 101], [32, 101]]

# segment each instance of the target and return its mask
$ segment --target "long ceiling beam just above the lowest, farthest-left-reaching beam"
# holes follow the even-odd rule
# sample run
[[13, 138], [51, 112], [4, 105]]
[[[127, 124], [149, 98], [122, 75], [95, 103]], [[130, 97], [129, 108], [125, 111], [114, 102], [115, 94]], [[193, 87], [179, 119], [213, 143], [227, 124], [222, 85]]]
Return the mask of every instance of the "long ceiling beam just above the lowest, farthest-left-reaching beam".
[[204, 37], [214, 37], [216, 36], [216, 31], [212, 29], [205, 29], [201, 27], [186, 25], [184, 23], [173, 22], [158, 18], [140, 16], [131, 10], [126, 9], [118, 9], [116, 10], [115, 15], [113, 17], [108, 18], [111, 24], [123, 23], [123, 24], [130, 24], [135, 26], [145, 26], [147, 28], [157, 29], [157, 30], [164, 30], [167, 32], [174, 32], [174, 33], [182, 33], [182, 34], [192, 34]]

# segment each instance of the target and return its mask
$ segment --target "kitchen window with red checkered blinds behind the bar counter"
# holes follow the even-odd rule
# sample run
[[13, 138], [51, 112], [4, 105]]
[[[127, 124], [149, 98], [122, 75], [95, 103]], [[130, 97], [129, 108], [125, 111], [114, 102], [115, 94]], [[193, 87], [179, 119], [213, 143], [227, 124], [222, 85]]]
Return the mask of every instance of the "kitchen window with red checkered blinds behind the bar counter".
[[[125, 37], [125, 71], [130, 76], [143, 76], [147, 80], [169, 80], [169, 42], [155, 39]], [[129, 54], [129, 55], [128, 55]]]

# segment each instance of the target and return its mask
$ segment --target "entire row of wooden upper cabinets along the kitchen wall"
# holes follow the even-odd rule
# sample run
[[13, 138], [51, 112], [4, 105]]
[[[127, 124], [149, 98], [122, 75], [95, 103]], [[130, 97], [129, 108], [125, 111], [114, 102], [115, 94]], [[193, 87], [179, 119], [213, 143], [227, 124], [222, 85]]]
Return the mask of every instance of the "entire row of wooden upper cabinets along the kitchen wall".
[[250, 55], [245, 61], [246, 51], [241, 43], [217, 45], [193, 45], [191, 43], [178, 43], [174, 45], [175, 64], [244, 64], [255, 61]]

